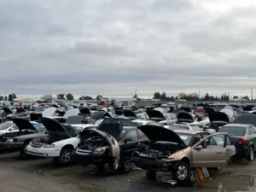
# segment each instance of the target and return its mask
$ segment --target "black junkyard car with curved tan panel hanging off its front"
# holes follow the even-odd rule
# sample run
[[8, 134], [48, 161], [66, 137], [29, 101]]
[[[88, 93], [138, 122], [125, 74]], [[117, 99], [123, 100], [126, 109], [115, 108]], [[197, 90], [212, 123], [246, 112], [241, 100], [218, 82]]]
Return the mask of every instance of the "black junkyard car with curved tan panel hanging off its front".
[[97, 130], [81, 131], [79, 137], [74, 160], [83, 166], [96, 165], [103, 172], [115, 172], [119, 165], [129, 171], [131, 154], [138, 143], [148, 141], [137, 128], [125, 128], [113, 118], [104, 119]]

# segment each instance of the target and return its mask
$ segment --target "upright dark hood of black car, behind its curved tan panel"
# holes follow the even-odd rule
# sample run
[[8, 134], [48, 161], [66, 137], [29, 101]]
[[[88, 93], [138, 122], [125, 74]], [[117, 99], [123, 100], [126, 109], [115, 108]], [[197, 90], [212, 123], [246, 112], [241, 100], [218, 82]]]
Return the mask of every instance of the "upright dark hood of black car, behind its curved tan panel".
[[107, 132], [115, 139], [119, 139], [123, 131], [123, 125], [120, 123], [119, 119], [107, 118], [102, 120], [97, 130]]

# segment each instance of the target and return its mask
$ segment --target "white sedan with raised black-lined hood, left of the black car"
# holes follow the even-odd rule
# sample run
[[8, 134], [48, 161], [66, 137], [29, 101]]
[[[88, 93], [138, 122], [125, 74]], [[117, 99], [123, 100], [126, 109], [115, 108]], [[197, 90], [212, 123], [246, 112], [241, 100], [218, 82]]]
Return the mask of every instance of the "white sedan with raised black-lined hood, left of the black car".
[[[55, 119], [48, 118], [42, 118], [41, 122], [48, 131], [48, 136], [32, 140], [26, 147], [27, 154], [51, 157], [63, 165], [71, 163], [73, 149], [80, 142], [77, 136], [82, 127], [61, 124]], [[89, 125], [87, 128], [89, 127], [93, 127], [93, 125]]]

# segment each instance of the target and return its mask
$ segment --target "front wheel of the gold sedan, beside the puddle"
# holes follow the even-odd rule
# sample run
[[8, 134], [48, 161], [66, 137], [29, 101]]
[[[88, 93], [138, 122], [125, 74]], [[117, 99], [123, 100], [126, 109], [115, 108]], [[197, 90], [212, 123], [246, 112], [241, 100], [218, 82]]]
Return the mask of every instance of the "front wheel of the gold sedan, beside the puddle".
[[181, 185], [190, 185], [192, 183], [189, 166], [184, 162], [177, 162], [172, 167], [172, 177]]

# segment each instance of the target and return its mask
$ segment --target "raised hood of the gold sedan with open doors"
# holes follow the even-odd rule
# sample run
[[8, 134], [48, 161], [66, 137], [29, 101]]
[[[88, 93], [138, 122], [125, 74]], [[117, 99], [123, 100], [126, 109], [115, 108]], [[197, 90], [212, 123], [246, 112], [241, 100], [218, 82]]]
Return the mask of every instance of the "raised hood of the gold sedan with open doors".
[[155, 125], [142, 125], [138, 126], [137, 129], [143, 131], [143, 133], [151, 141], [168, 141], [178, 143], [186, 148], [186, 144], [183, 142], [183, 140], [172, 130]]

